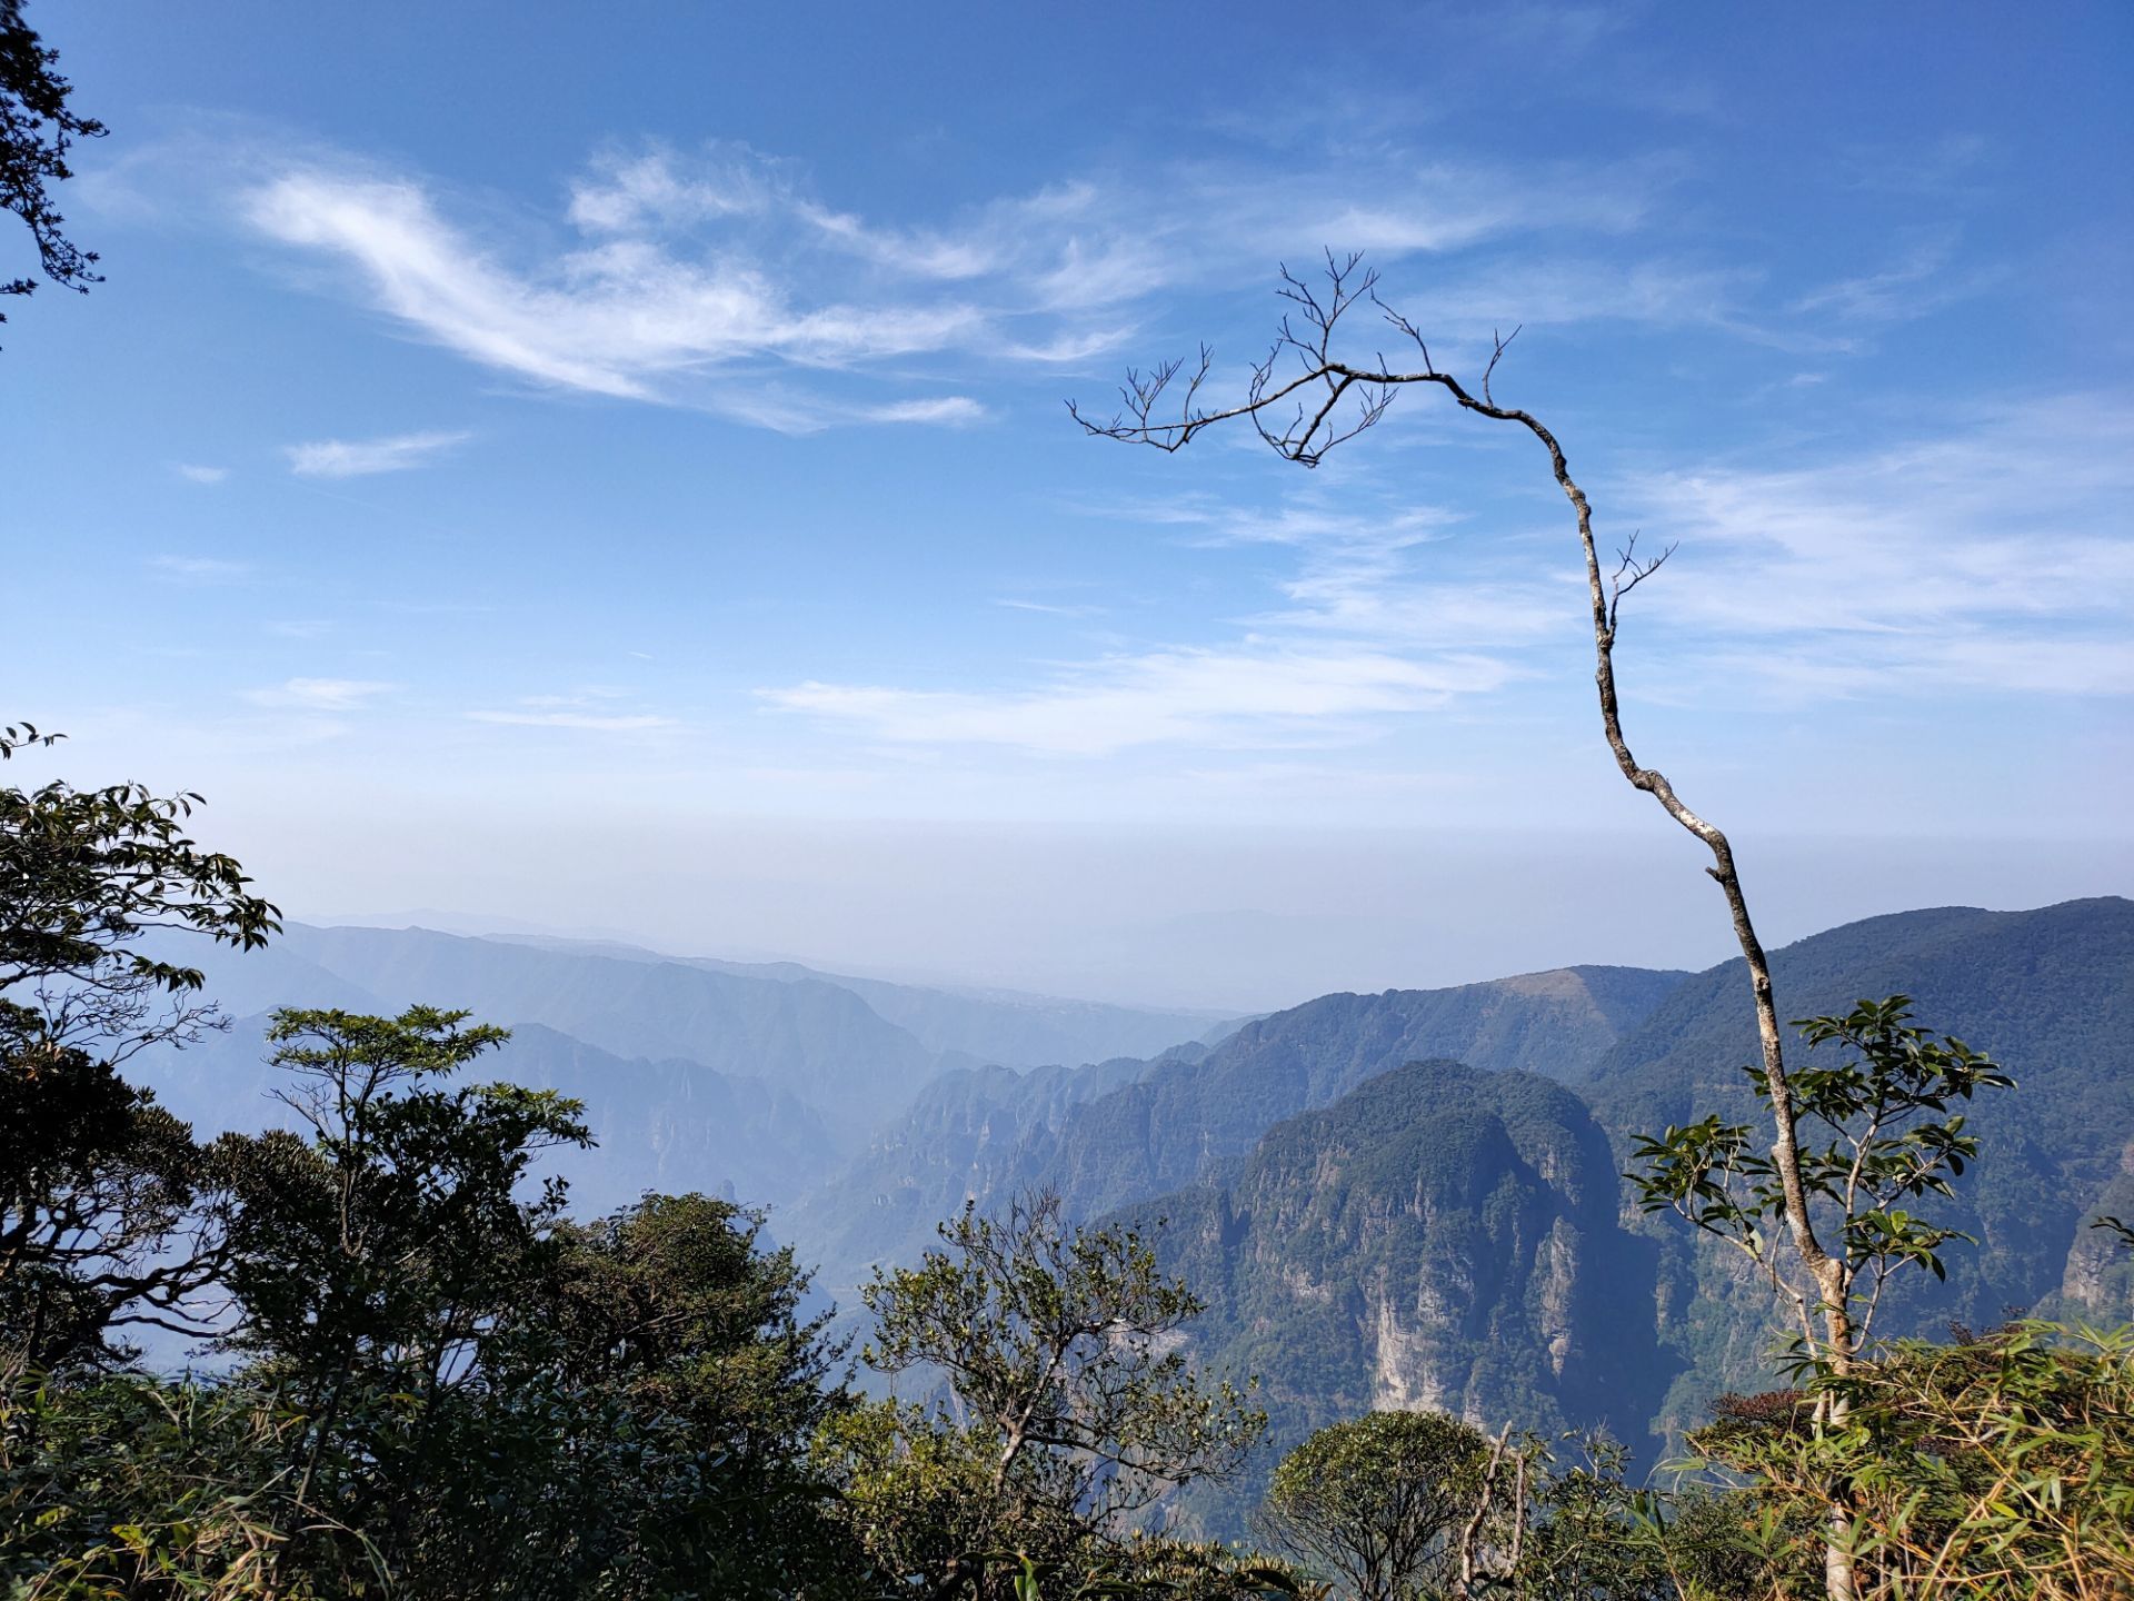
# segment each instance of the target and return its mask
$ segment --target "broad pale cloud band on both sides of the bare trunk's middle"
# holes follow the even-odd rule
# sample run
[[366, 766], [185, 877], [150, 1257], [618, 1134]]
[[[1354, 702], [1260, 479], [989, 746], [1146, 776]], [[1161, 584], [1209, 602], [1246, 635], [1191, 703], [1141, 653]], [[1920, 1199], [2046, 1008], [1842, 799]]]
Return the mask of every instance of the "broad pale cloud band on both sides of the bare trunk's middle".
[[[1605, 525], [1682, 540], [1633, 602], [1639, 660], [1667, 668], [1635, 675], [1639, 687], [1692, 698], [1707, 683], [1786, 698], [2134, 692], [2128, 433], [2134, 412], [2121, 401], [2076, 397], [1878, 453], [1607, 487]], [[1283, 749], [1364, 741], [1391, 719], [1502, 692], [1549, 653], [1583, 651], [1577, 572], [1536, 568], [1522, 529], [1481, 514], [1340, 506], [1312, 489], [1274, 508], [1174, 502], [1105, 514], [1201, 546], [1289, 549], [1295, 568], [1270, 576], [1280, 604], [1219, 649], [1114, 653], [1018, 687], [809, 681], [760, 700], [881, 745], [1073, 758]]]

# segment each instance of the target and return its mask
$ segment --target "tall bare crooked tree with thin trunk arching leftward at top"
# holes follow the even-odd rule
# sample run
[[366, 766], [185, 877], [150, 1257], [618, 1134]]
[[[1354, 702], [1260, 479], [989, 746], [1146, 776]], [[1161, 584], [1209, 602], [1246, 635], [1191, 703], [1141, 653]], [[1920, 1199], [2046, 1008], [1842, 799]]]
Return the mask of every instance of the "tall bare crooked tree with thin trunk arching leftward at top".
[[[1586, 564], [1600, 728], [1624, 779], [1650, 794], [1675, 824], [1694, 835], [1711, 854], [1711, 865], [1705, 871], [1726, 901], [1726, 916], [1733, 922], [1735, 941], [1748, 965], [1750, 997], [1756, 1008], [1756, 1035], [1763, 1057], [1761, 1076], [1771, 1112], [1769, 1168], [1778, 1187], [1775, 1210], [1784, 1219], [1788, 1242], [1807, 1281], [1803, 1289], [1795, 1291], [1797, 1306], [1803, 1315], [1812, 1313], [1810, 1334], [1818, 1360], [1837, 1373], [1848, 1370], [1859, 1351], [1861, 1336], [1852, 1323], [1852, 1298], [1848, 1294], [1844, 1262], [1825, 1249], [1812, 1215], [1810, 1185], [1803, 1178], [1797, 1142], [1799, 1108], [1793, 1080], [1786, 1074], [1784, 1037], [1771, 997], [1771, 965], [1765, 958], [1763, 941], [1756, 937], [1756, 924], [1750, 918], [1733, 845], [1718, 824], [1690, 809], [1665, 773], [1645, 766], [1633, 756], [1622, 728], [1622, 707], [1615, 689], [1620, 608], [1637, 585], [1660, 570], [1667, 557], [1673, 555], [1673, 546], [1658, 555], [1641, 557], [1635, 540], [1628, 540], [1618, 551], [1613, 568], [1603, 564], [1600, 549], [1594, 542], [1592, 504], [1571, 476], [1571, 463], [1564, 457], [1562, 444], [1532, 412], [1517, 406], [1500, 406], [1492, 393], [1492, 380], [1511, 342], [1519, 335], [1517, 329], [1509, 335], [1492, 335], [1487, 365], [1481, 371], [1481, 380], [1470, 389], [1453, 374], [1440, 371], [1430, 356], [1430, 346], [1421, 331], [1379, 299], [1379, 278], [1361, 265], [1361, 256], [1334, 256], [1329, 252], [1323, 282], [1308, 282], [1283, 267], [1283, 286], [1278, 292], [1289, 301], [1289, 312], [1283, 316], [1280, 331], [1265, 361], [1253, 369], [1242, 401], [1216, 408], [1204, 403], [1201, 395], [1208, 386], [1214, 354], [1208, 346], [1201, 346], [1191, 369], [1184, 361], [1167, 361], [1150, 371], [1129, 371], [1120, 389], [1120, 408], [1110, 416], [1093, 416], [1073, 401], [1067, 403], [1069, 414], [1088, 433], [1148, 444], [1159, 450], [1180, 450], [1204, 429], [1244, 421], [1283, 459], [1302, 467], [1317, 467], [1327, 450], [1379, 423], [1400, 391], [1436, 386], [1464, 412], [1526, 429], [1547, 453], [1549, 472], [1571, 502], [1579, 555]], [[1342, 331], [1344, 318], [1361, 305], [1376, 310], [1383, 327], [1402, 346], [1413, 346], [1419, 365], [1394, 365], [1383, 352], [1370, 361], [1351, 361], [1338, 352], [1336, 335]], [[1814, 1323], [1820, 1323], [1820, 1330]], [[1846, 1550], [1844, 1507], [1835, 1501], [1825, 1569], [1827, 1590], [1833, 1601], [1850, 1601], [1854, 1595], [1852, 1563]]]

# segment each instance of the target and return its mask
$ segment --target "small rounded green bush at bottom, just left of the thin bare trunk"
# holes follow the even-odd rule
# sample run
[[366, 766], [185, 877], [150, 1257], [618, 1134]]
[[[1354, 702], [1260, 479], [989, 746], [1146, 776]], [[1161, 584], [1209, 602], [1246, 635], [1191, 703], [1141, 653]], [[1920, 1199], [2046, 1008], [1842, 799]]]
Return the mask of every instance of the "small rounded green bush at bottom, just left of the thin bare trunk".
[[1255, 1528], [1355, 1601], [1438, 1595], [1487, 1456], [1477, 1428], [1443, 1413], [1351, 1417], [1283, 1458]]

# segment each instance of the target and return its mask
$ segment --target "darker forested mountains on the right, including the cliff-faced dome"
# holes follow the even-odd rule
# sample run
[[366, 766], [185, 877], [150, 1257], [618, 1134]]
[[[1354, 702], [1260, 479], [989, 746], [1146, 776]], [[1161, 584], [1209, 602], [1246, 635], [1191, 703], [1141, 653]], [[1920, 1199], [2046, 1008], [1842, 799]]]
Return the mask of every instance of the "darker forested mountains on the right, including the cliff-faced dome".
[[[1895, 1291], [1889, 1332], [2134, 1315], [2134, 1272], [2085, 1227], [2134, 1215], [2134, 903], [1872, 918], [1773, 976], [1786, 1016], [1912, 995], [2017, 1078], [1972, 1108], [1980, 1161], [1938, 1208], [1980, 1245]], [[849, 1300], [967, 1195], [1050, 1185], [1071, 1215], [1169, 1219], [1167, 1266], [1214, 1304], [1195, 1349], [1263, 1377], [1276, 1439], [1428, 1405], [1607, 1424], [1650, 1456], [1767, 1385], [1775, 1319], [1733, 1253], [1635, 1215], [1620, 1170], [1639, 1131], [1754, 1121], [1752, 1055], [1739, 963], [1329, 995], [1148, 1065], [950, 1074], [783, 1223]]]

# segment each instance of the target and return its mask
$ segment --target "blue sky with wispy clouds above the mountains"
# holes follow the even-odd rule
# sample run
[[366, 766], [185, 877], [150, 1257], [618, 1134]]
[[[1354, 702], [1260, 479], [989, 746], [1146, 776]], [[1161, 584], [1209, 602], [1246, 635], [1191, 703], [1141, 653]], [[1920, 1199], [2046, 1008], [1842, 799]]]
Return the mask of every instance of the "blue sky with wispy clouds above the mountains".
[[297, 912], [1240, 1005], [1716, 958], [1530, 442], [1067, 421], [1236, 391], [1323, 248], [1445, 367], [1524, 324], [1500, 397], [1679, 542], [1630, 732], [1793, 933], [2134, 877], [2121, 4], [30, 17], [109, 282], [0, 354], [6, 709]]

